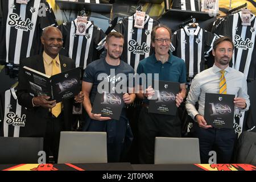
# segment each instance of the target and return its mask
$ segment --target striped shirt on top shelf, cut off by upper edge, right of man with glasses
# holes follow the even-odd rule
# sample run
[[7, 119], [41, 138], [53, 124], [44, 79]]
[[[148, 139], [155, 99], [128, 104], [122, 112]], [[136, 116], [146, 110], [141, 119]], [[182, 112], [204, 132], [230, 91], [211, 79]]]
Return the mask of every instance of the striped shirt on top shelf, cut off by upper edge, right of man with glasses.
[[200, 0], [173, 0], [172, 9], [201, 11]]

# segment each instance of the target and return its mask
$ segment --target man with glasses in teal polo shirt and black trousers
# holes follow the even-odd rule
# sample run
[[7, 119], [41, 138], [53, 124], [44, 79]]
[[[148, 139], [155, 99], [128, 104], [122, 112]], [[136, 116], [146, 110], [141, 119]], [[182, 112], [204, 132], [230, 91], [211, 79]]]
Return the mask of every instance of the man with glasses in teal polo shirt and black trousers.
[[[151, 44], [155, 53], [139, 62], [137, 73], [158, 73], [159, 80], [180, 83], [180, 92], [176, 95], [176, 106], [179, 107], [185, 98], [186, 67], [184, 60], [169, 52], [171, 44], [171, 30], [167, 26], [159, 25], [152, 29]], [[143, 99], [144, 104], [139, 117], [139, 162], [154, 163], [155, 137], [181, 137], [181, 122], [176, 115], [148, 113], [148, 98], [155, 93], [151, 85], [143, 88], [139, 85], [140, 93], [137, 97]], [[170, 154], [171, 155], [171, 154]]]

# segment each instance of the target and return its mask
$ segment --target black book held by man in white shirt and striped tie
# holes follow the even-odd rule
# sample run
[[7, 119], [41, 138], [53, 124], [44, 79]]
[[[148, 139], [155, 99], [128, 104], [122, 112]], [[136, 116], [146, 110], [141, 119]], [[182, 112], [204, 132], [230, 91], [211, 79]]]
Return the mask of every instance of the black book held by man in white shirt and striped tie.
[[233, 129], [234, 97], [231, 94], [205, 93], [204, 119], [207, 125]]

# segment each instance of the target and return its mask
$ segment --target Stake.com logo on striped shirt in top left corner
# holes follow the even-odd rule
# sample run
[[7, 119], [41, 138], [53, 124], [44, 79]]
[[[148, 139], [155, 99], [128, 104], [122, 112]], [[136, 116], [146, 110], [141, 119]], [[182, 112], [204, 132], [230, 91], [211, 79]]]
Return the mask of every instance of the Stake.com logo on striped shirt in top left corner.
[[9, 26], [15, 27], [17, 30], [28, 31], [33, 29], [34, 23], [32, 23], [28, 18], [24, 21], [15, 13], [10, 14], [9, 18]]

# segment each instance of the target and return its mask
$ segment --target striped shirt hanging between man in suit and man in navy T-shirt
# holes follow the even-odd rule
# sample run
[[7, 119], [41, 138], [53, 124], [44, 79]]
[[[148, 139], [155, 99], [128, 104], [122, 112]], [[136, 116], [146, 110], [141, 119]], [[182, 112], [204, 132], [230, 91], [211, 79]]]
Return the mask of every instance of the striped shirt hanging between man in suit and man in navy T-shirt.
[[86, 65], [99, 58], [105, 44], [106, 35], [101, 28], [90, 21], [86, 23], [86, 34], [76, 35], [77, 19], [61, 24], [60, 31], [64, 39], [64, 55], [76, 61], [76, 67], [86, 68]]

